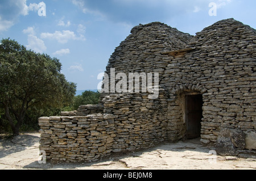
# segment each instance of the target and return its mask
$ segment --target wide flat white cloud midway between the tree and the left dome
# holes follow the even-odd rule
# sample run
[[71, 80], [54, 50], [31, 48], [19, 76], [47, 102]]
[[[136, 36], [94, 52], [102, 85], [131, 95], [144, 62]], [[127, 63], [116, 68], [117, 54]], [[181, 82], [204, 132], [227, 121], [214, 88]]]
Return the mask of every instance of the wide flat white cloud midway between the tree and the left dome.
[[54, 39], [62, 44], [68, 43], [69, 40], [85, 40], [84, 36], [77, 36], [75, 32], [69, 30], [64, 30], [62, 32], [55, 31], [54, 33], [41, 33], [41, 38]]

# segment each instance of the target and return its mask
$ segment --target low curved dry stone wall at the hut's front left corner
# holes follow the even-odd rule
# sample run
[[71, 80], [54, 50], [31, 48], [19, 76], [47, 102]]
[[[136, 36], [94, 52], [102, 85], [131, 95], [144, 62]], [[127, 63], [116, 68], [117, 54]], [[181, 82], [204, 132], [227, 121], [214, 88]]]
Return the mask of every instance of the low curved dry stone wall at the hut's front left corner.
[[113, 151], [114, 115], [40, 117], [40, 150], [53, 162], [90, 162]]

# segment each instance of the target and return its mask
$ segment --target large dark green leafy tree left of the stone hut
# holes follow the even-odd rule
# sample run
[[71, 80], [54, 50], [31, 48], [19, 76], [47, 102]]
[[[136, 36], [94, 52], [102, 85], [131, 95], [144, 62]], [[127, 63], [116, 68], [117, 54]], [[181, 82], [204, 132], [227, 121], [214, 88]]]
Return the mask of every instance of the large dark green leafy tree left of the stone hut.
[[[47, 54], [27, 50], [10, 39], [0, 43], [0, 107], [14, 134], [25, 117], [57, 110], [72, 101], [76, 85], [60, 73], [61, 63]], [[26, 120], [30, 120], [26, 119]]]

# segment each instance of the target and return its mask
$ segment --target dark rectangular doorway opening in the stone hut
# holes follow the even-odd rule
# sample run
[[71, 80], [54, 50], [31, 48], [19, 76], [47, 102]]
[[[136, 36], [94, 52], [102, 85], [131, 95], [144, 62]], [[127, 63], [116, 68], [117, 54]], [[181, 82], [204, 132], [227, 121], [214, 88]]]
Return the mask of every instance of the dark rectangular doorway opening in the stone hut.
[[201, 134], [201, 120], [203, 118], [203, 96], [200, 94], [186, 95], [185, 99], [187, 138], [198, 138]]

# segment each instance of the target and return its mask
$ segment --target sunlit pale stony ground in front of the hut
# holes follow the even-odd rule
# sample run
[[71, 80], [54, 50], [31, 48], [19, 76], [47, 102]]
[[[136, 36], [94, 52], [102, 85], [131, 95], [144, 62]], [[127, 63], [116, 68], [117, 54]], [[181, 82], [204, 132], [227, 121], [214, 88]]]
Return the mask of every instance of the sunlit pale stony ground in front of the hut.
[[221, 157], [200, 144], [199, 139], [164, 143], [154, 148], [94, 163], [39, 163], [40, 133], [24, 133], [0, 140], [0, 169], [74, 170], [255, 170], [256, 157]]

